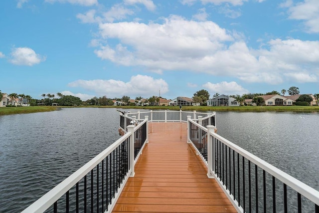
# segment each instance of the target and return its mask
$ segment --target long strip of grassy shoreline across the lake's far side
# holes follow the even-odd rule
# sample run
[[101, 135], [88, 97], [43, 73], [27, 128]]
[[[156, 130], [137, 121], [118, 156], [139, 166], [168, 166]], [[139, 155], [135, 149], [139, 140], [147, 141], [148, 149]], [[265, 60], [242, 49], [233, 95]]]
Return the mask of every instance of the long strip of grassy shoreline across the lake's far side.
[[[22, 114], [22, 113], [36, 113], [55, 111], [58, 108], [119, 108], [119, 109], [152, 109], [152, 110], [179, 110], [178, 106], [29, 106], [29, 107], [0, 107], [0, 115]], [[319, 106], [183, 106], [183, 111], [234, 111], [234, 112], [319, 112]]]

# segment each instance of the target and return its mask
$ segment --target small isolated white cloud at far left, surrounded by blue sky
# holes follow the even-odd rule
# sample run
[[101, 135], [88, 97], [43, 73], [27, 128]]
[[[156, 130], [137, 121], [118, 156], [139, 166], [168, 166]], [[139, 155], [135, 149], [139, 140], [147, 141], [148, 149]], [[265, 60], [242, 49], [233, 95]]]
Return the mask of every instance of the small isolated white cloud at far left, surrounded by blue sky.
[[9, 61], [15, 65], [32, 66], [34, 64], [40, 63], [41, 61], [45, 61], [45, 57], [36, 54], [31, 48], [17, 47], [13, 48]]

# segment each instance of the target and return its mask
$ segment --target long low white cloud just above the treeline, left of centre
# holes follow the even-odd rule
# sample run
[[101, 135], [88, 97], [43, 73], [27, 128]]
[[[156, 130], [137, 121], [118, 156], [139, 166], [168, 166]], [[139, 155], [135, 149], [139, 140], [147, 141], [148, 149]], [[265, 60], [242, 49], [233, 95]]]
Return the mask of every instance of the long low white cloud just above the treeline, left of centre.
[[94, 91], [99, 95], [107, 97], [129, 96], [153, 96], [168, 92], [168, 84], [163, 79], [154, 79], [151, 76], [136, 75], [132, 76], [129, 82], [120, 80], [76, 80], [68, 84], [70, 87], [81, 87]]

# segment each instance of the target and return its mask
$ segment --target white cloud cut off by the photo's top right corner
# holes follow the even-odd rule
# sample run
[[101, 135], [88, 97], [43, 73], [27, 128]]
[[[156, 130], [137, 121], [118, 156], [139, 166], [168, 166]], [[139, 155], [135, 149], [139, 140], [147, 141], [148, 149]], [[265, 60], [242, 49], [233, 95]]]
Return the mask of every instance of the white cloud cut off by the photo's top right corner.
[[319, 0], [305, 0], [295, 5], [288, 0], [281, 6], [289, 7], [290, 19], [303, 20], [306, 31], [319, 33]]

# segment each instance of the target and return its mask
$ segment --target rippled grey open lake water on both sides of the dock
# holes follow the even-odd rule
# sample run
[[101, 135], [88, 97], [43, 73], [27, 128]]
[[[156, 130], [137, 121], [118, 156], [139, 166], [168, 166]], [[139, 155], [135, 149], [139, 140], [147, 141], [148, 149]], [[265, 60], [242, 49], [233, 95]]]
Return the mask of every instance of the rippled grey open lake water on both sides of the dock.
[[[319, 190], [319, 113], [216, 117], [218, 134]], [[32, 204], [115, 142], [118, 127], [115, 108], [0, 116], [0, 213]]]

